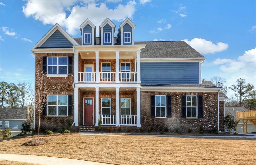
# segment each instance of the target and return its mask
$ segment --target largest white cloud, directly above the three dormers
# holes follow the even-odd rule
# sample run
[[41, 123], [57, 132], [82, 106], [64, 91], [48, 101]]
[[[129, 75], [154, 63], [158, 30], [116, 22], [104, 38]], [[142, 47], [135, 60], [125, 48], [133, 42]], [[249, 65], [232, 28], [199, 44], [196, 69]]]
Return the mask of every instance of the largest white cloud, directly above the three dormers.
[[[89, 18], [98, 28], [100, 24], [109, 18], [112, 21], [123, 21], [125, 18], [133, 18], [136, 11], [135, 1], [129, 1], [126, 5], [119, 4], [110, 9], [106, 3], [96, 4], [88, 2], [81, 6], [75, 5], [77, 1], [28, 1], [23, 6], [26, 17], [32, 16], [44, 25], [55, 25], [59, 23], [67, 29], [71, 35], [80, 33], [79, 26]], [[69, 15], [66, 12], [70, 13]], [[99, 36], [99, 30], [97, 36]]]

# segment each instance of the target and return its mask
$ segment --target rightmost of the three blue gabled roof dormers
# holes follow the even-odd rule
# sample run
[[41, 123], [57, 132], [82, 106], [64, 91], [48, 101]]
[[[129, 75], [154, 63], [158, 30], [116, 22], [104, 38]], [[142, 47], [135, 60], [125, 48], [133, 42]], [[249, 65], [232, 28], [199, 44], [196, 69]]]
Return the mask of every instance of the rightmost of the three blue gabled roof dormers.
[[117, 45], [133, 45], [134, 44], [134, 29], [135, 24], [129, 19], [126, 18], [118, 29], [118, 36], [117, 36]]

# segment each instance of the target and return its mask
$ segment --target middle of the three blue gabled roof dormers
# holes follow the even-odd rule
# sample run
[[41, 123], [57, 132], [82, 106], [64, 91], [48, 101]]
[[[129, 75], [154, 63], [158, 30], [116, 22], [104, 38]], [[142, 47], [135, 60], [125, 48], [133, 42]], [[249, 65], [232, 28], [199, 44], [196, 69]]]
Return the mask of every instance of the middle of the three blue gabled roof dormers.
[[101, 45], [114, 45], [115, 24], [107, 18], [100, 25]]

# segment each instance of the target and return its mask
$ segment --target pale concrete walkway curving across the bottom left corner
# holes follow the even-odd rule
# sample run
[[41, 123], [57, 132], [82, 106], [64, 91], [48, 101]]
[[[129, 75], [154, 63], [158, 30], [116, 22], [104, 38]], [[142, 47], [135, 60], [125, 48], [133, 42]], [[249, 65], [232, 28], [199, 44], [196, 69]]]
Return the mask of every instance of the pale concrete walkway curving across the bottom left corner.
[[[107, 164], [99, 163], [87, 160], [69, 159], [69, 158], [57, 158], [49, 156], [37, 156], [37, 155], [20, 155], [20, 154], [0, 154], [0, 160], [20, 161], [35, 164]], [[109, 164], [108, 164], [109, 165]]]

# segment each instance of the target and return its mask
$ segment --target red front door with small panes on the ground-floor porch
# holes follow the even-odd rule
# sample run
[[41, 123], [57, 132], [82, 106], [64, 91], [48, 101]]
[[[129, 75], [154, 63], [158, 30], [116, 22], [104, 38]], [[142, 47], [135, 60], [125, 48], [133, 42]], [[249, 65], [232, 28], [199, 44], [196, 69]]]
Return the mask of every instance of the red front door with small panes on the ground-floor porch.
[[93, 125], [93, 98], [84, 98], [83, 100], [83, 123], [85, 125]]

